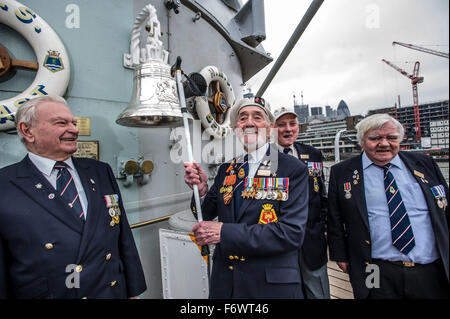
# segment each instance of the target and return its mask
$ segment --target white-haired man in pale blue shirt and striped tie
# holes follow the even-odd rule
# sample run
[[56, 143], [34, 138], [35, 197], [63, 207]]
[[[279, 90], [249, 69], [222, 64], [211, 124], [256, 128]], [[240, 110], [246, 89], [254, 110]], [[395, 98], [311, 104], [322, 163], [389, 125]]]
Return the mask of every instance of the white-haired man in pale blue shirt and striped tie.
[[356, 298], [448, 298], [448, 186], [434, 160], [400, 151], [402, 125], [357, 125], [364, 150], [331, 168], [330, 259]]

